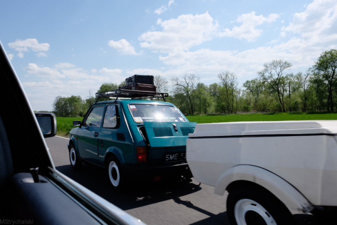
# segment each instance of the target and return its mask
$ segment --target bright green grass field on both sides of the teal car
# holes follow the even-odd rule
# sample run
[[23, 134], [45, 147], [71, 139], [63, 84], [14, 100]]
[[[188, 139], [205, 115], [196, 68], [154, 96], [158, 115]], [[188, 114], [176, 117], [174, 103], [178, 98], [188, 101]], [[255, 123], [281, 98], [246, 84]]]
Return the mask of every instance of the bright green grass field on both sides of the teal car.
[[[191, 122], [240, 122], [240, 121], [280, 121], [280, 120], [333, 120], [337, 119], [337, 113], [254, 113], [254, 114], [230, 114], [230, 115], [189, 115]], [[73, 128], [73, 120], [81, 120], [83, 117], [56, 117], [57, 133], [68, 135]]]

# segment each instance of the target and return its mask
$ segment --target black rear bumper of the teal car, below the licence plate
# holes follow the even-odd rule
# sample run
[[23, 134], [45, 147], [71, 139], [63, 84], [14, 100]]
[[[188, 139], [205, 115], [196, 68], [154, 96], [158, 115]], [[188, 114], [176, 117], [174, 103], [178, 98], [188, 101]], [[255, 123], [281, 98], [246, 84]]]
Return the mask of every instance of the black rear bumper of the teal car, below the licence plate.
[[139, 166], [121, 164], [122, 172], [129, 180], [153, 179], [154, 177], [169, 178], [184, 176], [191, 178], [192, 173], [187, 163], [175, 165]]

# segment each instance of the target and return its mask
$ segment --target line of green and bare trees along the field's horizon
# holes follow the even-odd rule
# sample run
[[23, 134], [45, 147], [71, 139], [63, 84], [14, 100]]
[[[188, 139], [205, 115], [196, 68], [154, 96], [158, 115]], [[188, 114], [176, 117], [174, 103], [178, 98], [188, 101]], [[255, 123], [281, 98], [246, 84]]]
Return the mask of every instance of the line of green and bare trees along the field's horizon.
[[[184, 114], [231, 114], [241, 112], [336, 111], [337, 49], [324, 51], [304, 72], [291, 72], [292, 64], [284, 59], [266, 62], [257, 76], [239, 87], [237, 75], [230, 70], [218, 74], [219, 82], [200, 82], [196, 74], [173, 76], [166, 80], [154, 76], [158, 92], [169, 92], [166, 101]], [[117, 89], [124, 83], [102, 83], [97, 92]], [[83, 116], [95, 102], [89, 95], [57, 96], [53, 102], [56, 116]]]

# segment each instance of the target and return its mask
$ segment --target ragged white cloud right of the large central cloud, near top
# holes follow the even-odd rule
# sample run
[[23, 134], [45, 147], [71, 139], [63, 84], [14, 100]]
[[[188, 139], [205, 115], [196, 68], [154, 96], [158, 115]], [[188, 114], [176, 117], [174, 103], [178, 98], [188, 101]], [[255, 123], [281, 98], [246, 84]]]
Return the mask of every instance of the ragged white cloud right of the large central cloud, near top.
[[267, 17], [263, 15], [256, 15], [255, 11], [247, 14], [242, 14], [238, 16], [237, 22], [242, 23], [240, 26], [234, 26], [232, 30], [226, 28], [224, 32], [220, 33], [219, 36], [230, 36], [239, 39], [246, 39], [248, 41], [255, 41], [258, 36], [263, 32], [262, 29], [257, 29], [256, 26], [262, 25], [263, 23], [273, 22], [280, 15], [276, 13], [269, 14]]

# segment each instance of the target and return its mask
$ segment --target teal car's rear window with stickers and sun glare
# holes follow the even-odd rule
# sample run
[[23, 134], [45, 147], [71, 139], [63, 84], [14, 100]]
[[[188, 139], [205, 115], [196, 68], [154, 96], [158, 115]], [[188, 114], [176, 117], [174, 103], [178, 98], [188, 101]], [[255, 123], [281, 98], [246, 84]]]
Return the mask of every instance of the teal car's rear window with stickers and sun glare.
[[186, 122], [180, 112], [170, 105], [129, 104], [133, 120], [143, 122]]

